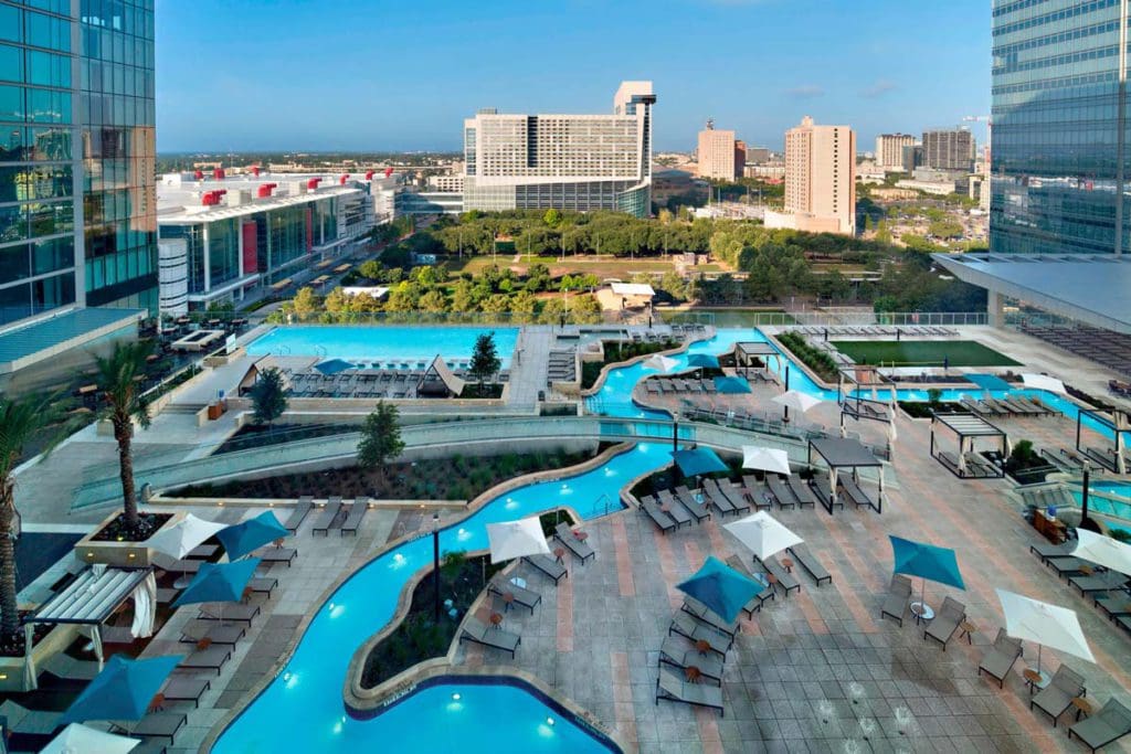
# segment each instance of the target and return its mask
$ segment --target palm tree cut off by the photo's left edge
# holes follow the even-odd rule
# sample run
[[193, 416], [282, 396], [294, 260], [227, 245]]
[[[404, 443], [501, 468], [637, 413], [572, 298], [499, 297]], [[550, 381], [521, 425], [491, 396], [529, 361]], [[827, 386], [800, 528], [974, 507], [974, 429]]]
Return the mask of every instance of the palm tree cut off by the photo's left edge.
[[[34, 396], [5, 398], [0, 396], [0, 643], [8, 644], [19, 635], [16, 606], [16, 479], [12, 473], [33, 437], [59, 417], [50, 399]], [[44, 453], [66, 435], [67, 426], [48, 436]]]

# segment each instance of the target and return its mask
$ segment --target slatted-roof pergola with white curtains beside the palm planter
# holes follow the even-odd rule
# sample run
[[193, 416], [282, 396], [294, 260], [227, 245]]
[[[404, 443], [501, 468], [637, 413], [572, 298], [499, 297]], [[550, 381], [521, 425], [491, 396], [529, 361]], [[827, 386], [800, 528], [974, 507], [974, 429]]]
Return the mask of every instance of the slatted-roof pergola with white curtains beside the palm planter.
[[40, 605], [35, 614], [24, 618], [27, 638], [27, 668], [29, 687], [35, 688], [35, 667], [32, 665], [32, 633], [36, 624], [79, 624], [88, 626], [94, 642], [94, 655], [102, 669], [102, 630], [106, 618], [127, 600], [133, 600], [132, 633], [148, 636], [157, 610], [157, 581], [152, 567], [120, 569], [92, 565], [71, 581], [62, 591]]

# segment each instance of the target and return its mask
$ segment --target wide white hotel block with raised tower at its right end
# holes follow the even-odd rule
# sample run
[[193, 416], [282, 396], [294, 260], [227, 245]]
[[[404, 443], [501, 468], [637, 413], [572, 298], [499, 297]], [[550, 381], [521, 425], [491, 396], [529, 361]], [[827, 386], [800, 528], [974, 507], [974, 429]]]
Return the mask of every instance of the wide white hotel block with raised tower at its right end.
[[480, 111], [464, 121], [464, 209], [647, 216], [655, 103], [651, 81], [623, 81], [610, 115]]

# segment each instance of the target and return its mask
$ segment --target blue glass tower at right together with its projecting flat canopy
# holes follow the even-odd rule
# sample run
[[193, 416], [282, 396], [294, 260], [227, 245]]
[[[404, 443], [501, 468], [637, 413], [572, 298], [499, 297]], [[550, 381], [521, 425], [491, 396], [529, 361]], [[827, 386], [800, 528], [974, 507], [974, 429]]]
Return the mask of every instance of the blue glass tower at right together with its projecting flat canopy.
[[993, 2], [990, 253], [938, 258], [993, 323], [1013, 302], [1131, 332], [1128, 23], [1120, 2]]

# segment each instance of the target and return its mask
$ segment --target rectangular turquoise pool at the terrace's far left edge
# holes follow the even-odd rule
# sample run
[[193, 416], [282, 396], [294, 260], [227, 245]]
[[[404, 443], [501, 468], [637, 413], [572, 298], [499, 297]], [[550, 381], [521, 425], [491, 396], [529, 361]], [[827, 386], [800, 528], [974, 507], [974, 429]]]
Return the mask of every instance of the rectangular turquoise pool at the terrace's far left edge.
[[493, 332], [503, 369], [510, 366], [518, 328], [361, 327], [348, 324], [284, 324], [248, 345], [252, 356], [323, 356], [351, 362], [416, 367], [437, 355], [444, 361], [470, 359], [475, 339]]

